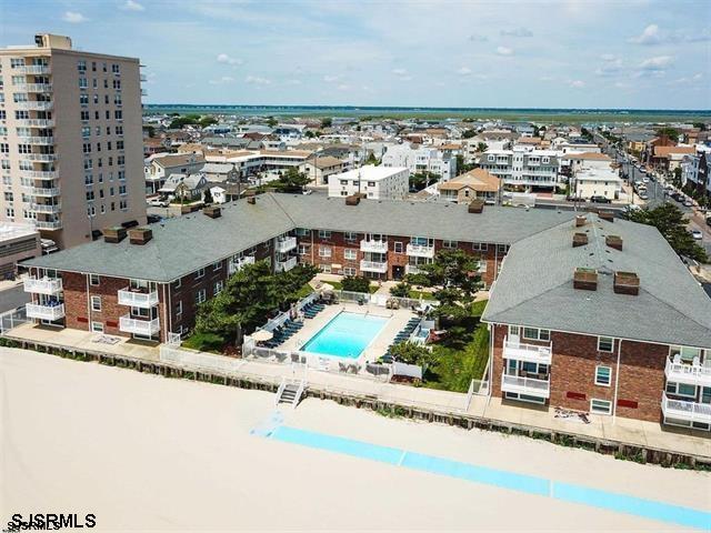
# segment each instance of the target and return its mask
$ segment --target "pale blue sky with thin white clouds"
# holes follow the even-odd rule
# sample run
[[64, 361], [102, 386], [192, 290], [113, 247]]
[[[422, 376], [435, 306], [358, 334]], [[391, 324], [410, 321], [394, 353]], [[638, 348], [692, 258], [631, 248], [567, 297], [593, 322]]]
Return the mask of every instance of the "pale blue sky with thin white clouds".
[[146, 103], [711, 109], [711, 0], [0, 0], [138, 57]]

